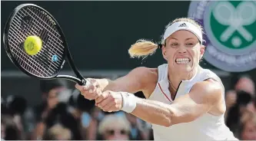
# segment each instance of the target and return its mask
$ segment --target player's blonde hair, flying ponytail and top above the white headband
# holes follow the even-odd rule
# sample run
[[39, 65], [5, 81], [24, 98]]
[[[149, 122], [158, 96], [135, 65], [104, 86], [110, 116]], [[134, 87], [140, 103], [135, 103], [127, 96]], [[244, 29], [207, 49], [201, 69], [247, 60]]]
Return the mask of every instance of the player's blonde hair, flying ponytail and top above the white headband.
[[[197, 26], [203, 33], [203, 28], [201, 25], [199, 25], [196, 21], [194, 21], [191, 18], [176, 18], [174, 21], [171, 21], [166, 27], [165, 30], [172, 24], [178, 21], [187, 21], [191, 24]], [[163, 42], [163, 37], [161, 37], [161, 42]], [[148, 41], [145, 39], [140, 39], [135, 42], [135, 44], [131, 45], [131, 48], [129, 48], [128, 53], [131, 57], [148, 57], [148, 55], [154, 54], [155, 51], [158, 49], [159, 46], [162, 44], [155, 44], [152, 41]], [[165, 44], [164, 44], [165, 45]]]

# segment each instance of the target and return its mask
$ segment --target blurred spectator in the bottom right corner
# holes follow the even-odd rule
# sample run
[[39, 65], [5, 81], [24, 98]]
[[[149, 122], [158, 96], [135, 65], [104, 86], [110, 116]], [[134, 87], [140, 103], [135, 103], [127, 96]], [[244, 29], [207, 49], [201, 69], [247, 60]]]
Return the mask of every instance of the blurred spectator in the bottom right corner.
[[256, 140], [256, 113], [249, 110], [244, 111], [241, 116], [241, 125], [238, 133], [241, 140]]

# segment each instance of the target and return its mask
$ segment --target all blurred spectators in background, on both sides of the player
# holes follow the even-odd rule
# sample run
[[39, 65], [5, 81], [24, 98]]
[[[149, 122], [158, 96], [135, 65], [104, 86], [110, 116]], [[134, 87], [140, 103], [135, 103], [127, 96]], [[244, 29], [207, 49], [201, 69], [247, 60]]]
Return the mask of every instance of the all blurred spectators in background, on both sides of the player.
[[[42, 103], [29, 106], [21, 96], [2, 97], [1, 137], [7, 140], [152, 140], [151, 124], [124, 112], [105, 113], [70, 90], [64, 80], [40, 82]], [[238, 139], [256, 140], [255, 84], [240, 77], [225, 90], [227, 126]], [[136, 93], [143, 97], [143, 93]], [[27, 97], [28, 99], [28, 97]]]

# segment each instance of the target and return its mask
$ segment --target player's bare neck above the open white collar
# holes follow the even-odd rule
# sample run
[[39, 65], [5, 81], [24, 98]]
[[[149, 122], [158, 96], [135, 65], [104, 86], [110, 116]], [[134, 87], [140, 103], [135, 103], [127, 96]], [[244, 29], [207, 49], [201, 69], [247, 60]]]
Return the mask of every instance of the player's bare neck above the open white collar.
[[178, 89], [178, 85], [181, 83], [181, 80], [191, 80], [196, 73], [197, 69], [193, 69], [193, 71], [190, 72], [181, 72], [175, 71], [175, 69], [168, 69], [168, 79], [171, 85], [175, 87], [175, 89]]

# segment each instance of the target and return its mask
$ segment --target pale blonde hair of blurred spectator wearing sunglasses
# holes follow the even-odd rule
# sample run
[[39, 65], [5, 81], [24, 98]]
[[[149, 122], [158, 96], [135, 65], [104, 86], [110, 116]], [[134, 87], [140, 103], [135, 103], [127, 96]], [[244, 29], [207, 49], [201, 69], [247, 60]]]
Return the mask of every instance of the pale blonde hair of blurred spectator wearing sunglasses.
[[131, 124], [128, 122], [125, 116], [117, 116], [115, 114], [109, 114], [101, 120], [101, 123], [99, 123], [98, 133], [102, 134], [106, 130], [110, 130], [109, 128], [114, 128], [114, 127], [121, 128], [127, 132], [130, 132], [131, 130]]

